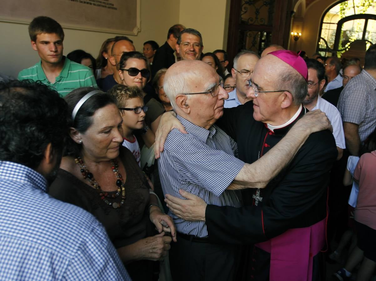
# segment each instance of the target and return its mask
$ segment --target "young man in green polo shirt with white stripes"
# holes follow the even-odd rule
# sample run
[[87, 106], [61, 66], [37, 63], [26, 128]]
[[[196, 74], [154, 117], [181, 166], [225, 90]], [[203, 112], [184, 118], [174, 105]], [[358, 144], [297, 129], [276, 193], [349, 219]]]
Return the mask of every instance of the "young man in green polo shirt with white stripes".
[[61, 25], [49, 17], [36, 17], [29, 24], [29, 35], [33, 50], [41, 61], [18, 74], [18, 80], [40, 80], [66, 96], [79, 87], [97, 87], [90, 68], [71, 62], [63, 56], [64, 31]]

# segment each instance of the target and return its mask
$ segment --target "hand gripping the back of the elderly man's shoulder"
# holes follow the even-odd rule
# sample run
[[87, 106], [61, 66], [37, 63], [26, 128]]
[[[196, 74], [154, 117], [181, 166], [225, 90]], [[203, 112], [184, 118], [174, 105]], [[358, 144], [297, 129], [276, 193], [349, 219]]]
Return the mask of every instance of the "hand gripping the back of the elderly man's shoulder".
[[158, 129], [155, 132], [155, 144], [154, 144], [154, 153], [155, 159], [158, 159], [160, 152], [164, 149], [164, 143], [169, 132], [172, 129], [177, 128], [183, 134], [187, 134], [184, 126], [176, 118], [176, 114], [173, 111], [168, 111], [162, 114], [161, 121], [159, 121]]

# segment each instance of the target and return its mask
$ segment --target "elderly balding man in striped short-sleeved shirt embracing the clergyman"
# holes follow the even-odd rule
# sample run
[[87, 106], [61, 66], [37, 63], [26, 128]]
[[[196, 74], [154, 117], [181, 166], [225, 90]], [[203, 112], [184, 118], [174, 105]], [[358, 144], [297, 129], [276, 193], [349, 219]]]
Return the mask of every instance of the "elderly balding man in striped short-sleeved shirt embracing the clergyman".
[[[214, 125], [228, 98], [222, 86], [215, 70], [201, 61], [183, 60], [168, 69], [164, 90], [186, 132], [173, 129], [168, 134], [159, 159], [159, 174], [165, 194], [183, 198], [179, 194], [183, 189], [207, 204], [240, 207], [240, 189], [265, 187], [311, 132], [329, 128], [330, 124], [323, 113], [309, 113], [270, 153], [246, 164], [236, 157], [236, 143]], [[184, 220], [171, 211], [169, 214], [177, 229], [177, 242], [170, 250], [173, 279], [233, 280], [239, 258], [237, 246], [208, 243], [205, 221], [195, 217]]]

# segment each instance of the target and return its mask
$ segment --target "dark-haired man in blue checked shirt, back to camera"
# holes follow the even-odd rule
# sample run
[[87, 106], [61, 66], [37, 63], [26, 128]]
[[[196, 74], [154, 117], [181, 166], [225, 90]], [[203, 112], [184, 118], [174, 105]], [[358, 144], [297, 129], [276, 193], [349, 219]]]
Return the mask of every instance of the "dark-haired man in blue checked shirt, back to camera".
[[67, 130], [55, 90], [0, 84], [0, 280], [130, 280], [97, 219], [46, 193]]

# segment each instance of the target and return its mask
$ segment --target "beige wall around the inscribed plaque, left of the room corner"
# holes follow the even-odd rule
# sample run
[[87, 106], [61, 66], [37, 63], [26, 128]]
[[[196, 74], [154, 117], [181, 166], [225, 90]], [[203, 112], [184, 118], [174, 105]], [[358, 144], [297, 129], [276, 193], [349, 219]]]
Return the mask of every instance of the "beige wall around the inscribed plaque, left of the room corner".
[[[142, 51], [147, 40], [164, 44], [168, 28], [179, 22], [179, 5], [176, 0], [141, 0], [141, 32], [137, 36], [129, 36], [136, 50]], [[94, 57], [97, 57], [103, 41], [116, 35], [73, 29], [64, 29], [64, 33], [64, 54], [83, 49]], [[26, 24], [0, 22], [0, 38], [1, 73], [17, 77], [19, 71], [39, 60], [30, 46]]]

